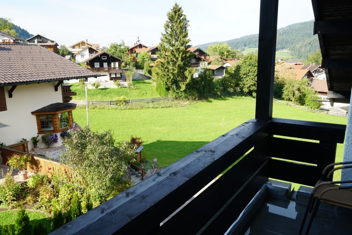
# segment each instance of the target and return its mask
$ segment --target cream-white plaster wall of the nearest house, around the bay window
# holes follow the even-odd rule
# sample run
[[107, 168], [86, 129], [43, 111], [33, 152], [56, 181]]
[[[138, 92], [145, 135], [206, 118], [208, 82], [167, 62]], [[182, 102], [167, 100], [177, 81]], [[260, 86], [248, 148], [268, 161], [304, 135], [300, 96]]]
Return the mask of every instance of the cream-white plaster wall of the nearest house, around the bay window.
[[[8, 91], [11, 86], [5, 87], [5, 98], [7, 111], [0, 112], [0, 122], [10, 125], [11, 127], [0, 129], [0, 142], [6, 145], [19, 143], [22, 138], [27, 139], [29, 149], [32, 149], [32, 137], [38, 135], [37, 119], [31, 112], [43, 108], [46, 105], [62, 102], [61, 86], [57, 92], [54, 87], [57, 82], [45, 82], [39, 84], [19, 85], [9, 98]], [[57, 133], [58, 142], [53, 146], [62, 145], [60, 133]], [[43, 135], [39, 135], [41, 139]], [[40, 141], [39, 147], [44, 147]]]

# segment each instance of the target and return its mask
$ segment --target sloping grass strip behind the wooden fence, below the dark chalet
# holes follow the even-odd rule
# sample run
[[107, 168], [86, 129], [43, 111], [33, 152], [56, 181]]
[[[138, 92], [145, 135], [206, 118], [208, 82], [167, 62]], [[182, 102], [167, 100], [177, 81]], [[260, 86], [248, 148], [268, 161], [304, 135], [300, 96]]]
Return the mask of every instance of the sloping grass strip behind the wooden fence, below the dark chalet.
[[[88, 100], [116, 100], [121, 95], [125, 96], [126, 99], [143, 99], [143, 98], [155, 98], [160, 97], [155, 91], [155, 86], [152, 81], [133, 81], [134, 87], [131, 88], [101, 88], [101, 89], [88, 89]], [[85, 100], [86, 92], [85, 88], [79, 83], [72, 83], [72, 92], [76, 92], [77, 95], [73, 96], [73, 100]]]

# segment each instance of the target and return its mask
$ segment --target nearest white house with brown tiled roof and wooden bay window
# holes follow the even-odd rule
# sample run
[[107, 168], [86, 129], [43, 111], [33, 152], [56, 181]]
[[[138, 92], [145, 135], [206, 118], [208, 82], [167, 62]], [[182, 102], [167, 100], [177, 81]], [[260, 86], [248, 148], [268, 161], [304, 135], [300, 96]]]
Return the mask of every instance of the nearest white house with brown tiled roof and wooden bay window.
[[[0, 62], [0, 142], [6, 145], [72, 127], [76, 106], [66, 101], [75, 93], [63, 81], [99, 76], [38, 45], [0, 44]], [[61, 142], [59, 136], [54, 146]]]

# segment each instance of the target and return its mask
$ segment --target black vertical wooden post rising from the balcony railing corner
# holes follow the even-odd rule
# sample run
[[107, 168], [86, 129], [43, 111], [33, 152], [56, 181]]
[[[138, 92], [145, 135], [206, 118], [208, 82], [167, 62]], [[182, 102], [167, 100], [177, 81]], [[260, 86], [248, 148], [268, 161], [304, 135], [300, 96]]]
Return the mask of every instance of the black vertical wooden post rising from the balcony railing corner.
[[279, 0], [261, 0], [255, 118], [272, 118]]

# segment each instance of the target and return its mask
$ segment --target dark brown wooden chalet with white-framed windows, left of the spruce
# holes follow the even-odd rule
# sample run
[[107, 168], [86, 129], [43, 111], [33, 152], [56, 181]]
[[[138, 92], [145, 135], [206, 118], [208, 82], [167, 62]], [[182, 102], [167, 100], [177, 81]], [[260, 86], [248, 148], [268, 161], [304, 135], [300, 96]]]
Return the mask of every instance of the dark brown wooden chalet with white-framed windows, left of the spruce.
[[101, 51], [82, 61], [82, 63], [85, 63], [87, 65], [88, 70], [93, 71], [95, 73], [107, 75], [106, 77], [102, 78], [103, 80], [107, 81], [122, 79], [122, 62], [124, 62], [123, 59], [111, 55], [106, 51]]

